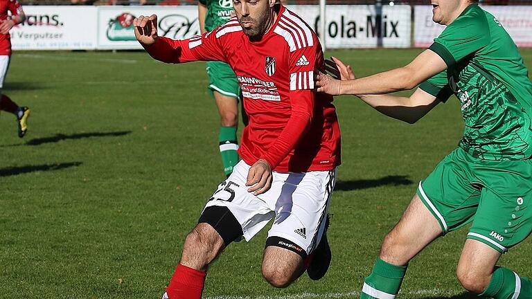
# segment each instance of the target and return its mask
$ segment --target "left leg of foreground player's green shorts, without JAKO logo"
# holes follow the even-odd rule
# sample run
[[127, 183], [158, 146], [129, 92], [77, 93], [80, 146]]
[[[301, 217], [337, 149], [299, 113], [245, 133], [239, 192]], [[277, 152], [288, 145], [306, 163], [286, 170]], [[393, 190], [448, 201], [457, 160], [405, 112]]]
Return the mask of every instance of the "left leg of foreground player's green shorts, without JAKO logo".
[[467, 153], [455, 149], [418, 185], [418, 197], [438, 221], [444, 235], [468, 224], [477, 212], [480, 188], [470, 167]]

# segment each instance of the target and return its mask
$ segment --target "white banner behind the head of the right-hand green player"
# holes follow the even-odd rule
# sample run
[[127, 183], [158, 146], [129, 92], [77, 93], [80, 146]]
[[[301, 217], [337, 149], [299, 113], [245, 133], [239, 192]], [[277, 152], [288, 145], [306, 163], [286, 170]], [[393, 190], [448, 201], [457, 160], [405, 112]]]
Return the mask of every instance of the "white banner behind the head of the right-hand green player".
[[[532, 6], [483, 6], [494, 15], [517, 46], [532, 47]], [[432, 6], [414, 8], [414, 46], [432, 44], [445, 27], [432, 21]]]

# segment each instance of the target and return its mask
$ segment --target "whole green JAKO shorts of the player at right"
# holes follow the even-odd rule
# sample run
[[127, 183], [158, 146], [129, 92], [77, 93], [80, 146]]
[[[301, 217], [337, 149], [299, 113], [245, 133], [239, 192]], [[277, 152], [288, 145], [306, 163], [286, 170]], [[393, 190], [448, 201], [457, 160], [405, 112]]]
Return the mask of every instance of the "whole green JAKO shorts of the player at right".
[[468, 239], [505, 253], [532, 232], [532, 160], [487, 161], [460, 147], [419, 183], [443, 234], [472, 221]]

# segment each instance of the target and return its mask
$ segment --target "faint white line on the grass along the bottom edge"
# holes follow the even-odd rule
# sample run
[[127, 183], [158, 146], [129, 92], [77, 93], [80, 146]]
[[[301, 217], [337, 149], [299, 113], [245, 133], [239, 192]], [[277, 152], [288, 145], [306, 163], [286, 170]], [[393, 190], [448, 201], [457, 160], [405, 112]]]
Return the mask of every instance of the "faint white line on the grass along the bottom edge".
[[[399, 295], [431, 295], [431, 296], [443, 296], [443, 295], [453, 295], [451, 291], [445, 291], [442, 289], [420, 289], [417, 291], [408, 291], [408, 292], [399, 292]], [[456, 295], [456, 294], [454, 294]], [[283, 295], [283, 296], [210, 296], [205, 299], [332, 299], [332, 298], [358, 298], [360, 296], [360, 291], [352, 291], [346, 293], [300, 293], [293, 295]]]

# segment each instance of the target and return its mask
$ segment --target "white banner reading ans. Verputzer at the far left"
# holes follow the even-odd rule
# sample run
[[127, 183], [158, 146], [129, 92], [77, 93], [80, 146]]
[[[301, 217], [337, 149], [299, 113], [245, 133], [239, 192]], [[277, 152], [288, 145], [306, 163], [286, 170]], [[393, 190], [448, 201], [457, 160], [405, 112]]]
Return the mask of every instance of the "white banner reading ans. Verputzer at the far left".
[[94, 6], [23, 6], [26, 21], [11, 30], [15, 50], [96, 48], [98, 10]]

